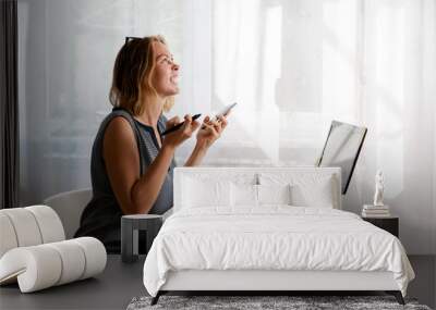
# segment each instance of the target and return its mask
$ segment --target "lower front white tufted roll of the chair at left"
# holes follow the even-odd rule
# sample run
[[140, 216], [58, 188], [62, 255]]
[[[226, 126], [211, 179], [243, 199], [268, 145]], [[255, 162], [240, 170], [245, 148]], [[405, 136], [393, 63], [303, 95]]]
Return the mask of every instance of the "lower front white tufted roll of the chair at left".
[[0, 284], [15, 280], [22, 293], [83, 280], [106, 266], [106, 249], [92, 237], [20, 247], [0, 259]]

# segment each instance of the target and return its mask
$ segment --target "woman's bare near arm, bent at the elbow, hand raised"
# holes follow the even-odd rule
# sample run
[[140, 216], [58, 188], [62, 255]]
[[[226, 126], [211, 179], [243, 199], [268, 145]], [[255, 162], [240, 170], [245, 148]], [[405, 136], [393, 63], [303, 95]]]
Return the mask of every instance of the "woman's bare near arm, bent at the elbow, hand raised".
[[114, 117], [104, 138], [104, 159], [109, 181], [124, 214], [148, 213], [164, 184], [175, 148], [198, 126], [185, 119], [185, 125], [169, 134], [146, 173], [140, 176], [137, 142], [129, 122]]

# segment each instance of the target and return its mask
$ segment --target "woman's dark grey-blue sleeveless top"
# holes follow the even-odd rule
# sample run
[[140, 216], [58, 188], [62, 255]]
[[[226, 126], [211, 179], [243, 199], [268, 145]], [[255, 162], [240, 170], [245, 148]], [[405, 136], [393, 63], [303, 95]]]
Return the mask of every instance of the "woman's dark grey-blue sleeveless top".
[[[94, 140], [90, 158], [90, 178], [93, 184], [93, 198], [86, 206], [81, 216], [81, 226], [74, 237], [92, 236], [99, 239], [110, 253], [121, 250], [121, 216], [122, 210], [113, 194], [102, 158], [102, 141], [105, 131], [113, 117], [122, 116], [129, 121], [135, 134], [140, 152], [140, 175], [143, 175], [159, 152], [159, 145], [153, 127], [136, 121], [125, 110], [114, 109], [102, 121]], [[159, 134], [165, 131], [167, 119], [161, 115], [157, 128]], [[172, 175], [175, 166], [172, 160], [159, 195], [149, 211], [152, 214], [162, 214], [173, 204]], [[141, 240], [140, 240], [141, 241]], [[141, 241], [141, 244], [143, 244]], [[141, 245], [140, 245], [141, 246]]]

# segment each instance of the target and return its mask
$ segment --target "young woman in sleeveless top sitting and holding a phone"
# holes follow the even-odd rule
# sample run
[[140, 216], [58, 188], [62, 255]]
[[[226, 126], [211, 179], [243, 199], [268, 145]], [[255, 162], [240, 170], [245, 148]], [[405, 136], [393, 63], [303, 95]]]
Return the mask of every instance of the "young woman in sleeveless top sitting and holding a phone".
[[162, 112], [179, 92], [179, 65], [160, 36], [132, 38], [119, 51], [110, 89], [113, 111], [102, 121], [94, 141], [90, 176], [93, 199], [81, 218], [78, 236], [100, 239], [108, 252], [120, 252], [123, 214], [162, 214], [172, 207], [175, 149], [196, 134], [185, 165], [201, 163], [227, 125], [225, 117], [206, 116], [201, 125], [184, 116], [180, 129], [161, 136], [181, 122]]

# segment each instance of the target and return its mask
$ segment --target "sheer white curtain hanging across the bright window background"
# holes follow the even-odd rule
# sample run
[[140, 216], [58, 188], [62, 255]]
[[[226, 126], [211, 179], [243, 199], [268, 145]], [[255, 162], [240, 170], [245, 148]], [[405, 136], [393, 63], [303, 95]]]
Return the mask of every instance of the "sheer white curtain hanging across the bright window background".
[[204, 164], [311, 165], [331, 120], [367, 126], [344, 209], [382, 169], [407, 249], [436, 252], [434, 0], [20, 0], [19, 20], [23, 201], [89, 186], [116, 53], [162, 34], [182, 67], [168, 116], [239, 102]]

